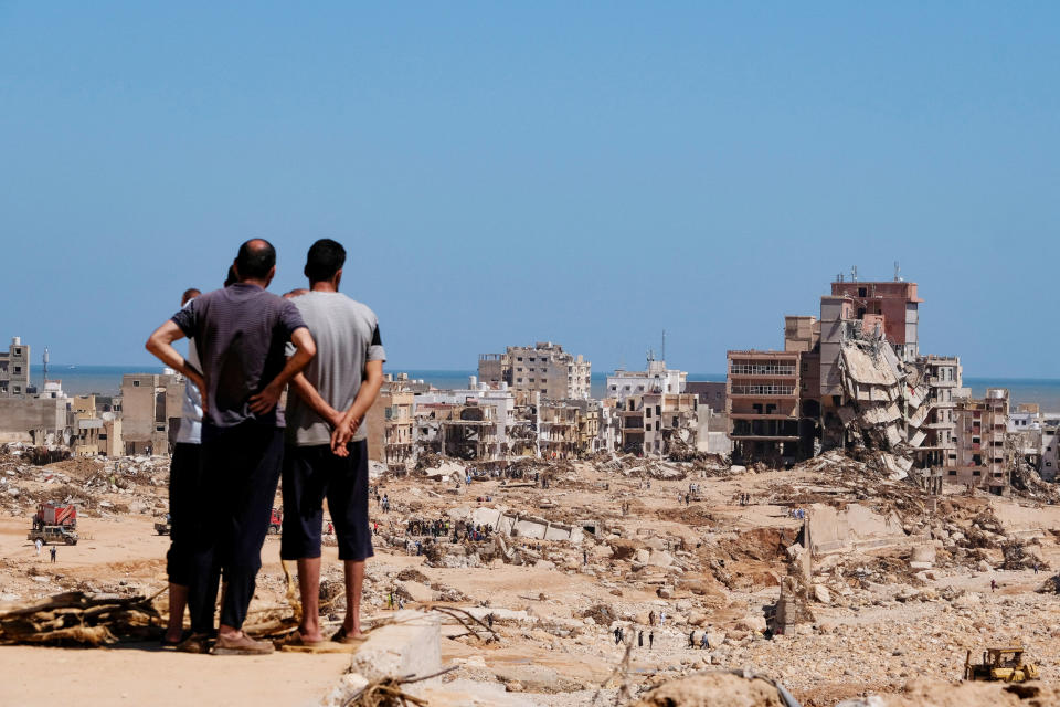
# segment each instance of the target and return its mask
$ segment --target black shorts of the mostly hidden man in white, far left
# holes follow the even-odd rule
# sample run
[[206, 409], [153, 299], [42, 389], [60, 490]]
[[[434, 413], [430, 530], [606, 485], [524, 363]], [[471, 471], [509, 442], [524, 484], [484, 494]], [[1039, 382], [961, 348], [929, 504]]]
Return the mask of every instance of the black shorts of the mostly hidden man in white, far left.
[[192, 548], [195, 524], [199, 523], [199, 484], [201, 454], [198, 444], [178, 442], [169, 464], [169, 552], [166, 573], [173, 584], [189, 584], [192, 572]]

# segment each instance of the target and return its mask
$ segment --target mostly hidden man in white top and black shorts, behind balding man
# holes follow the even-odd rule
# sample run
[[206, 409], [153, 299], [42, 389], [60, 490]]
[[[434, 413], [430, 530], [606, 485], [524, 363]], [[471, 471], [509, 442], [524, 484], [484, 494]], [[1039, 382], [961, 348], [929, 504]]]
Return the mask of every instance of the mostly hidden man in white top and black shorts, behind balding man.
[[[180, 306], [187, 307], [202, 293], [191, 287], [180, 297]], [[194, 339], [188, 339], [188, 363], [202, 370]], [[184, 609], [188, 606], [188, 585], [193, 566], [193, 519], [195, 497], [200, 479], [199, 445], [202, 442], [202, 393], [199, 387], [184, 383], [180, 425], [177, 443], [169, 464], [169, 551], [166, 553], [166, 573], [169, 577], [169, 622], [162, 645], [178, 645], [183, 640]]]

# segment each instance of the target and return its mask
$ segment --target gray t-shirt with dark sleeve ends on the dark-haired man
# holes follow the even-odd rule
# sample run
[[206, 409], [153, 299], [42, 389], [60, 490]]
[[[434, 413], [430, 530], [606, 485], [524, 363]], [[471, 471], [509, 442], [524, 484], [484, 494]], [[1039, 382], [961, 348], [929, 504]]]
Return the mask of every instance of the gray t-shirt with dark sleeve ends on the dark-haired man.
[[[317, 344], [317, 356], [303, 371], [328, 404], [344, 412], [364, 380], [364, 363], [385, 361], [375, 313], [342, 293], [310, 292], [290, 302]], [[354, 441], [368, 437], [362, 423]], [[287, 441], [298, 446], [331, 443], [331, 426], [293, 390], [287, 394]]]

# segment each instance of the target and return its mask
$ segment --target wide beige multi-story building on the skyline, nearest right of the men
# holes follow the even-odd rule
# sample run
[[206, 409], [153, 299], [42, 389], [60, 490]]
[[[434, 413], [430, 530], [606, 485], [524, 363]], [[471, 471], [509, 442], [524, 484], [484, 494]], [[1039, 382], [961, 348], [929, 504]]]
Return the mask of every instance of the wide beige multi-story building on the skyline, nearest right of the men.
[[592, 365], [552, 341], [509, 346], [504, 354], [483, 354], [478, 378], [490, 388], [507, 383], [520, 405], [536, 393], [548, 400], [584, 400], [590, 397]]

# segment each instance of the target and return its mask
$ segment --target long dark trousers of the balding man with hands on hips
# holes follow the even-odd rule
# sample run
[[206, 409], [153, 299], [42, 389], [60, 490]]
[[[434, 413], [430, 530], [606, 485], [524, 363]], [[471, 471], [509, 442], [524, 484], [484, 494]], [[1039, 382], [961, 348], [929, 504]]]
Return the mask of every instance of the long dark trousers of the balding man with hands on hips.
[[227, 588], [221, 623], [240, 629], [262, 567], [276, 485], [284, 458], [283, 430], [243, 422], [203, 430], [199, 518], [188, 588], [192, 630], [213, 630], [221, 573]]

